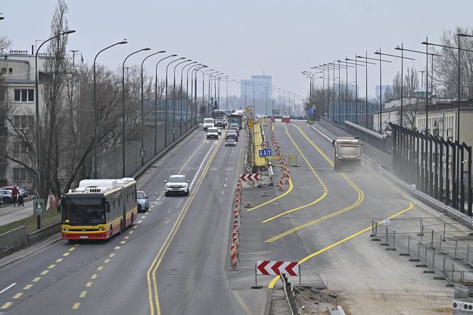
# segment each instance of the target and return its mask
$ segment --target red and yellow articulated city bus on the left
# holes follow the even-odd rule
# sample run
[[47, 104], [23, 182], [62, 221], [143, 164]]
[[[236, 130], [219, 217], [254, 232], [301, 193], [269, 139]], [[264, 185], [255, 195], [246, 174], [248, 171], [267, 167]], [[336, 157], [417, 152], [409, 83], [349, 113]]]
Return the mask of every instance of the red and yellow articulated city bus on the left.
[[58, 208], [62, 239], [111, 239], [137, 218], [136, 182], [128, 177], [81, 180], [63, 195]]

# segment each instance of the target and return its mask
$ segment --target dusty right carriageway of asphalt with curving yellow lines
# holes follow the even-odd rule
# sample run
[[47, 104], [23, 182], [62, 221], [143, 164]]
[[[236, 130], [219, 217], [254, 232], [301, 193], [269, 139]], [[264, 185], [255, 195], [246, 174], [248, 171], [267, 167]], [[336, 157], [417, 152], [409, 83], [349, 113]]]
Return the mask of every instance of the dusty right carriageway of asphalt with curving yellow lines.
[[[274, 133], [282, 153], [297, 155], [298, 166], [289, 167], [289, 194], [249, 209], [242, 220], [241, 244], [250, 243], [242, 248], [239, 264], [246, 278], [251, 279], [257, 260], [300, 262], [302, 284], [320, 284], [323, 279], [350, 301], [353, 314], [431, 314], [436, 308], [448, 309], [452, 289], [445, 288], [445, 282], [436, 282], [396, 252], [370, 242], [367, 229], [372, 217], [437, 213], [368, 168], [333, 170], [331, 143], [305, 123], [277, 123]], [[244, 204], [261, 203], [259, 195], [243, 195]], [[292, 278], [298, 284], [298, 278]], [[259, 276], [259, 284], [271, 287], [278, 284], [274, 279]], [[427, 301], [425, 295], [435, 298]]]

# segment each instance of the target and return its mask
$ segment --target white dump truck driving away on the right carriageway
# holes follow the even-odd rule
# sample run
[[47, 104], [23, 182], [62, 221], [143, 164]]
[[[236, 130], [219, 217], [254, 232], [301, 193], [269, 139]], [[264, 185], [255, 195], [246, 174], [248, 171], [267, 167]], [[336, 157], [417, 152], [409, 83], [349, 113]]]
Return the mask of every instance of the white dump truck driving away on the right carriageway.
[[335, 148], [333, 168], [357, 168], [361, 165], [361, 141], [358, 137], [338, 137], [332, 141]]

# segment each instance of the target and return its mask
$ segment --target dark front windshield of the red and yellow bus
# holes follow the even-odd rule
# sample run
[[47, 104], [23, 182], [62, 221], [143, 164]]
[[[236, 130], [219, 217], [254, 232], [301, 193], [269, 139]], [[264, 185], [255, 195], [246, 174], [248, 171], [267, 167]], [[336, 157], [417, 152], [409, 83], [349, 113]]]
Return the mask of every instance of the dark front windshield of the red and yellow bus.
[[103, 197], [65, 198], [62, 201], [63, 223], [96, 225], [105, 223]]

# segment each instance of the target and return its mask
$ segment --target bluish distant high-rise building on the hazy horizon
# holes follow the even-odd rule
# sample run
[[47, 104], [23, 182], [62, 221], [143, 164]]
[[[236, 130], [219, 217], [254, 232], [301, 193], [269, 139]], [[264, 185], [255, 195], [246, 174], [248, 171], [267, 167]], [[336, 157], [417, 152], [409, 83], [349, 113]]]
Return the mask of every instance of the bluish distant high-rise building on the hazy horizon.
[[[251, 80], [240, 80], [241, 100], [246, 94], [246, 105], [254, 105], [256, 113], [266, 114], [266, 97], [271, 100], [271, 76], [251, 76]], [[254, 92], [254, 94], [253, 94]], [[253, 104], [253, 96], [254, 103]]]

